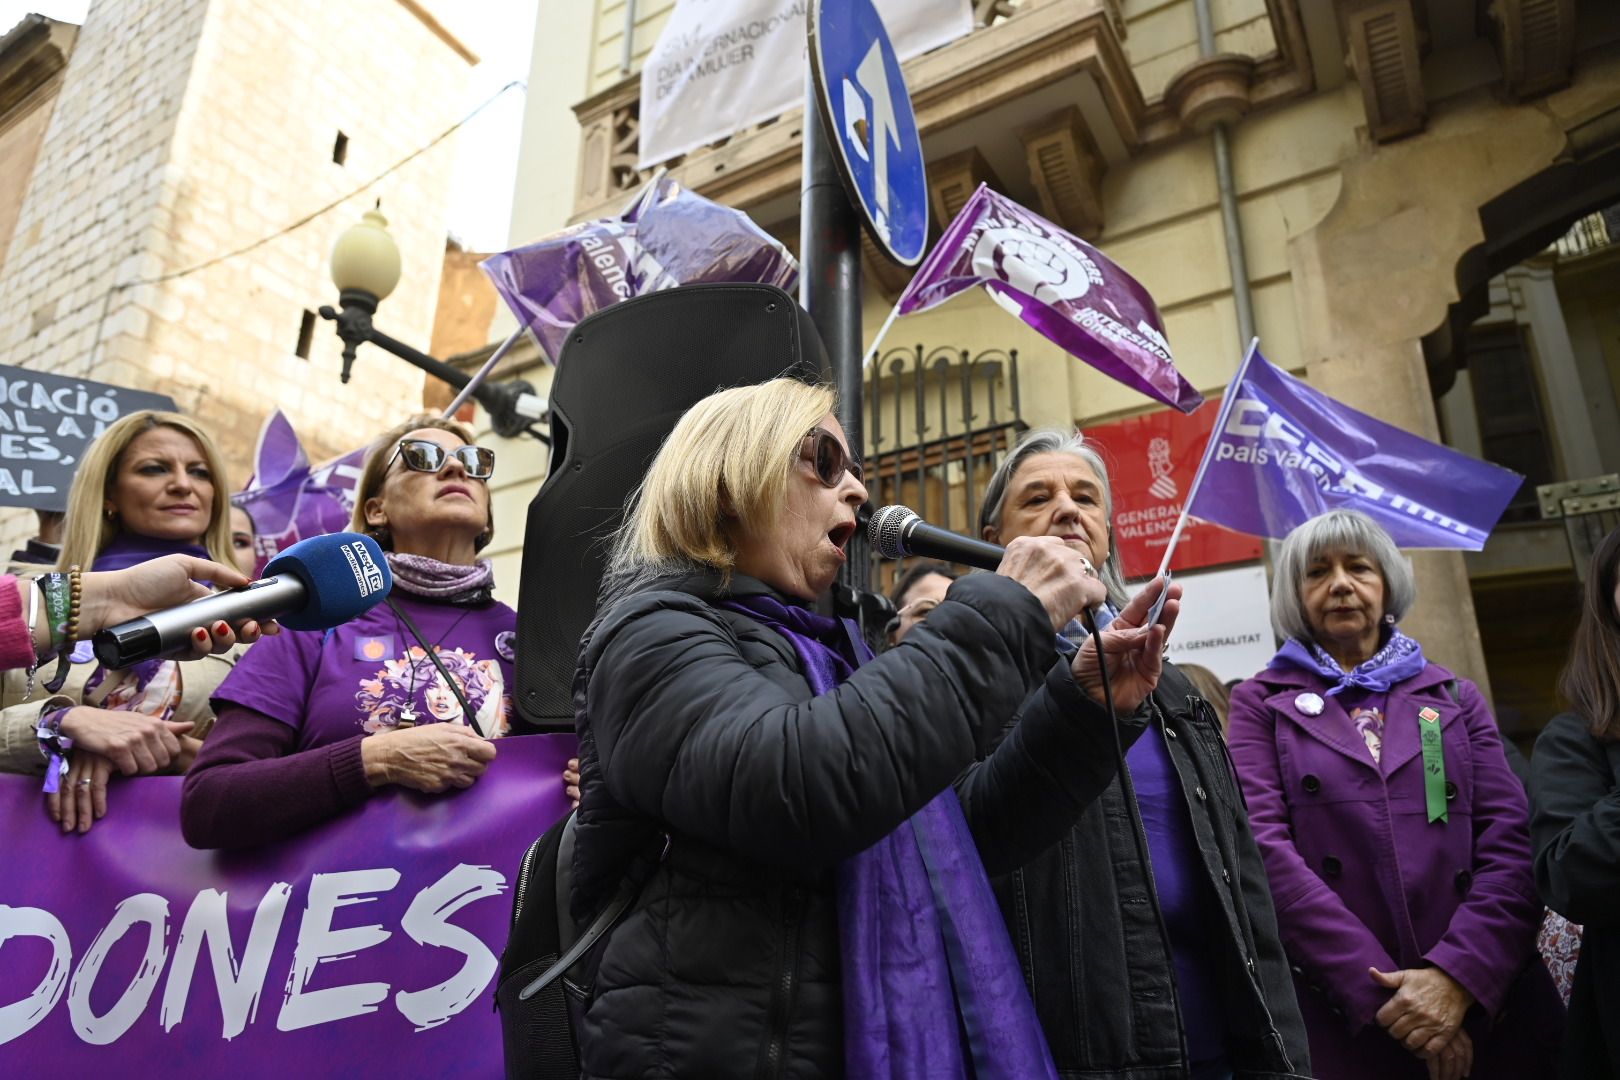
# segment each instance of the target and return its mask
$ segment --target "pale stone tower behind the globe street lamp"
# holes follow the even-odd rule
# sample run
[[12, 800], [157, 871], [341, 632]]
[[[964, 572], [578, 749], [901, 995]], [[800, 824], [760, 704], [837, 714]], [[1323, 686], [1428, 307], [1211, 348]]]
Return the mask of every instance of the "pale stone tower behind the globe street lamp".
[[382, 355], [343, 385], [316, 311], [334, 238], [381, 199], [405, 275], [379, 324], [433, 329], [454, 138], [368, 183], [462, 108], [476, 57], [431, 6], [94, 0], [37, 160], [3, 155], [0, 364], [168, 393], [233, 486], [277, 406], [316, 460], [418, 408], [421, 374]]

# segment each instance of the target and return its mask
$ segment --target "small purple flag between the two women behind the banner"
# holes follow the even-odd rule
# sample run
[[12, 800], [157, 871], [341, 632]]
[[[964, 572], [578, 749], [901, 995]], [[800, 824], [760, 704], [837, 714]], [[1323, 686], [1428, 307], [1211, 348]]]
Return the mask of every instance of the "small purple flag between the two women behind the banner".
[[259, 568], [306, 536], [347, 529], [364, 463], [366, 449], [361, 447], [311, 468], [292, 423], [282, 410], [271, 413], [253, 452], [253, 476], [232, 495], [232, 502], [253, 518]]

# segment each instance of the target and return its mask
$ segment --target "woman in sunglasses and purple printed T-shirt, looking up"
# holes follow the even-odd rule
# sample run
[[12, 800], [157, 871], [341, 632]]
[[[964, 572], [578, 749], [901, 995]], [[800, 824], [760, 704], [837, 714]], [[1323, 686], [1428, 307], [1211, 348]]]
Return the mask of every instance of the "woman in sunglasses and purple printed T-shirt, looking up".
[[371, 445], [352, 528], [387, 552], [394, 593], [334, 631], [284, 631], [225, 680], [181, 798], [190, 844], [251, 847], [381, 787], [478, 780], [510, 725], [517, 631], [478, 557], [494, 463], [452, 419], [413, 418]]

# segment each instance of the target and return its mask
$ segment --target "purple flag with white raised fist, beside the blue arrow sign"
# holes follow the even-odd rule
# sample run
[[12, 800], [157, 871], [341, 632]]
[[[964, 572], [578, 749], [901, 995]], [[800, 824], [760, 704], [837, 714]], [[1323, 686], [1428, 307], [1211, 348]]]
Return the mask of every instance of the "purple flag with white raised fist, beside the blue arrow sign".
[[985, 185], [944, 230], [896, 309], [927, 311], [975, 285], [1110, 379], [1183, 413], [1204, 403], [1176, 371], [1147, 290], [1097, 248]]

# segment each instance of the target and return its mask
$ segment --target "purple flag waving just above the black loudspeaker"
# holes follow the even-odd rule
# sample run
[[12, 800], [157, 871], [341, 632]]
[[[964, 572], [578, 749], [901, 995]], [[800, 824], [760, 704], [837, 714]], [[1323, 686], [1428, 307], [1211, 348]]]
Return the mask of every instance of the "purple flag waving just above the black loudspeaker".
[[799, 280], [794, 257], [747, 214], [663, 173], [624, 215], [570, 225], [481, 266], [552, 361], [575, 322], [620, 300], [701, 282], [792, 290]]

